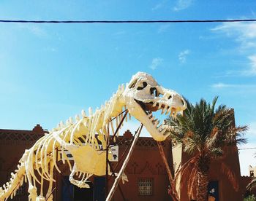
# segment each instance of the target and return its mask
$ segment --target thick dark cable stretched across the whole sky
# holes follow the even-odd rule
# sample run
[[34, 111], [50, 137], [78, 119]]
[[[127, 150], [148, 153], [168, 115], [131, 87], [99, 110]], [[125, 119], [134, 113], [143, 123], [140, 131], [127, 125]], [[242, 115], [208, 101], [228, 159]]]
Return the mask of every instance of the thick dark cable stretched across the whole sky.
[[241, 20], [0, 20], [0, 23], [236, 23], [256, 22], [256, 19]]

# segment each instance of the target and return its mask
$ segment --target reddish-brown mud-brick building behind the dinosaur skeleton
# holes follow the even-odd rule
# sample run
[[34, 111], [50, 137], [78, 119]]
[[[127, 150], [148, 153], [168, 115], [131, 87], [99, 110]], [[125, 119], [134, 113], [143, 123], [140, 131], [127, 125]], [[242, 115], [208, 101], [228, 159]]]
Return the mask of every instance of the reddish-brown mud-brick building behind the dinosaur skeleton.
[[[3, 130], [0, 129], [0, 185], [2, 186], [10, 180], [10, 173], [13, 172], [25, 149], [29, 149], [47, 131], [40, 125], [36, 125], [33, 130]], [[116, 138], [116, 157], [111, 162], [111, 167], [118, 171], [127, 155], [127, 149], [132, 142], [132, 133], [127, 130], [124, 135]], [[173, 171], [183, 165], [189, 156], [184, 153], [182, 146], [171, 146], [170, 141], [162, 142], [167, 161]], [[116, 146], [115, 146], [116, 147]], [[221, 164], [225, 162], [232, 167], [238, 179], [238, 190], [235, 191], [221, 170]], [[114, 179], [108, 177], [108, 186], [104, 177], [92, 176], [89, 181], [90, 189], [79, 189], [69, 183], [69, 167], [58, 162], [61, 174], [55, 172], [54, 178], [54, 200], [80, 201], [80, 200], [105, 200], [106, 188], [108, 191], [113, 185]], [[117, 166], [118, 165], [118, 166]], [[135, 146], [135, 150], [124, 171], [129, 182], [121, 184], [116, 190], [113, 200], [170, 200], [167, 194], [168, 178], [162, 157], [159, 154], [157, 142], [153, 138], [140, 137]], [[240, 176], [240, 166], [238, 159], [238, 149], [236, 146], [227, 148], [227, 156], [211, 166], [209, 191], [214, 192], [216, 200], [242, 200], [245, 186], [250, 181], [250, 177]], [[178, 192], [181, 200], [187, 201], [186, 180], [178, 184]], [[181, 185], [183, 184], [183, 185]], [[13, 200], [28, 200], [27, 184], [23, 184]], [[183, 187], [181, 187], [183, 186]]]

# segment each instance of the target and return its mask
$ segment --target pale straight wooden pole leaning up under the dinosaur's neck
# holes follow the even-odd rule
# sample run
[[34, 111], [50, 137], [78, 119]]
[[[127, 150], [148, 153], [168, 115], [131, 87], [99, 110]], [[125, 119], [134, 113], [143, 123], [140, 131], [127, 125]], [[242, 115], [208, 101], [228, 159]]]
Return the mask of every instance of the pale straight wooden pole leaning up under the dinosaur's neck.
[[136, 142], [138, 141], [138, 138], [140, 136], [140, 132], [141, 132], [142, 128], [143, 128], [143, 124], [140, 125], [140, 128], [139, 128], [138, 132], [135, 133], [135, 138], [134, 138], [134, 141], [132, 142], [132, 146], [129, 149], [129, 153], [127, 154], [127, 158], [124, 160], [124, 164], [122, 165], [121, 170], [119, 171], [118, 176], [115, 179], [115, 182], [114, 182], [114, 184], [113, 184], [113, 186], [112, 186], [112, 188], [111, 188], [111, 190], [108, 194], [108, 197], [107, 197], [106, 201], [110, 201], [111, 198], [113, 197], [113, 194], [116, 191], [118, 183], [119, 183], [121, 177], [123, 176], [125, 167], [127, 167], [129, 159], [132, 156], [132, 151], [135, 149], [135, 145], [136, 145]]

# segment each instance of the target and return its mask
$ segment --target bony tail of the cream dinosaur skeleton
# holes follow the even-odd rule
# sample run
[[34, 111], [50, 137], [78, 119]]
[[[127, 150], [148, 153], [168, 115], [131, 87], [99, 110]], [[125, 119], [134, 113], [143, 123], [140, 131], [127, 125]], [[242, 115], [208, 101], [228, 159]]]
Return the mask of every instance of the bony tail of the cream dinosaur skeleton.
[[0, 187], [0, 200], [7, 200], [8, 197], [14, 197], [16, 191], [22, 186], [24, 178], [26, 181], [26, 170], [25, 165], [22, 159], [20, 159], [20, 165], [18, 165], [18, 169], [15, 170], [15, 173], [11, 173], [10, 181]]

